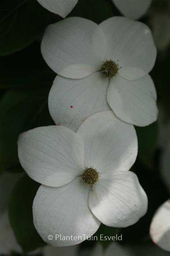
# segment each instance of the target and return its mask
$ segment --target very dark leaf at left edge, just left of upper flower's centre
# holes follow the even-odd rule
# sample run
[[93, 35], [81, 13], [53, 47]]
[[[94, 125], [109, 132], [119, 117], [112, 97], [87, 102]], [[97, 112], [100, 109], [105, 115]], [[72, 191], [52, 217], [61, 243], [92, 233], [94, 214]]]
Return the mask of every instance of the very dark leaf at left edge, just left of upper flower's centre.
[[0, 57], [0, 88], [51, 87], [56, 74], [47, 66], [40, 43], [10, 56]]

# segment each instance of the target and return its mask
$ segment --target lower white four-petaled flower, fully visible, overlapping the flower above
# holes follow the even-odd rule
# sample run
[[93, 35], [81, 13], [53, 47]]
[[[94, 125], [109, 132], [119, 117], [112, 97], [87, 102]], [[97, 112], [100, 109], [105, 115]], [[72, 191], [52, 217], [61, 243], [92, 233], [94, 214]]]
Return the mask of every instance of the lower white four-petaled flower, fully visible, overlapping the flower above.
[[[52, 246], [81, 243], [101, 222], [126, 227], [146, 213], [147, 196], [128, 171], [137, 155], [136, 132], [112, 111], [90, 116], [77, 133], [59, 125], [22, 133], [18, 155], [28, 175], [43, 184], [34, 198], [34, 225]], [[70, 240], [55, 240], [56, 234]]]

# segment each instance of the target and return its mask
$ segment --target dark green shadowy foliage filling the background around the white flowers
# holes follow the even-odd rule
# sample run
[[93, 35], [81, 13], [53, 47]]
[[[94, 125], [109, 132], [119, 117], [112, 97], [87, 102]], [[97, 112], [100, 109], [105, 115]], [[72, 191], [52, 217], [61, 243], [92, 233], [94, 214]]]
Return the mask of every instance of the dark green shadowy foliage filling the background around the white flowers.
[[[157, 31], [157, 17], [170, 15], [169, 0], [153, 0], [142, 22]], [[40, 51], [41, 38], [48, 24], [62, 18], [48, 12], [36, 0], [8, 0], [0, 5], [0, 173], [23, 172], [22, 178], [11, 193], [9, 216], [16, 239], [25, 253], [43, 246], [33, 226], [32, 202], [39, 187], [19, 164], [17, 138], [21, 132], [38, 126], [54, 124], [48, 112], [48, 92], [55, 73], [43, 61]], [[121, 15], [110, 0], [79, 0], [69, 16], [80, 16], [100, 23], [113, 15]], [[159, 24], [160, 25], [160, 24]], [[157, 60], [151, 71], [155, 82], [158, 106], [162, 109], [161, 122], [170, 119], [170, 24], [162, 22], [160, 35], [155, 40]], [[155, 32], [156, 31], [156, 32]], [[169, 39], [169, 41], [167, 41]], [[161, 45], [161, 47], [160, 47]], [[162, 47], [163, 45], [163, 47]], [[161, 147], [158, 143], [160, 123], [147, 127], [135, 127], [138, 136], [138, 157], [132, 167], [149, 199], [147, 214], [135, 225], [124, 229], [101, 225], [97, 235], [121, 233], [123, 243], [150, 240], [149, 226], [155, 210], [168, 197], [168, 191], [160, 177]], [[107, 247], [109, 241], [104, 241]], [[81, 247], [92, 247], [94, 241], [85, 241]], [[14, 254], [13, 254], [14, 255]]]

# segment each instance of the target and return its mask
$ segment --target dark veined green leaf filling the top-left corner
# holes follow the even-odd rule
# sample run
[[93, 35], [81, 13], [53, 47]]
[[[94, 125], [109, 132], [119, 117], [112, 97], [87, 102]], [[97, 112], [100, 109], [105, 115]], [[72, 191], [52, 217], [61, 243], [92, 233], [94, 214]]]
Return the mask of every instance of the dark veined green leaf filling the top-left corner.
[[44, 30], [49, 12], [36, 0], [1, 1], [0, 56], [21, 50]]

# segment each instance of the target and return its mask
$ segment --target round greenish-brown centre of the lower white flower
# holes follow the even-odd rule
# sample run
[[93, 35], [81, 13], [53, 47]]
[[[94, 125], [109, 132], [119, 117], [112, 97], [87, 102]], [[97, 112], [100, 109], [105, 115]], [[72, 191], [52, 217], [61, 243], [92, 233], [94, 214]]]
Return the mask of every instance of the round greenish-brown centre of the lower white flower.
[[90, 166], [90, 168], [86, 168], [82, 173], [82, 181], [84, 181], [88, 185], [95, 184], [99, 179], [99, 172], [96, 169]]

